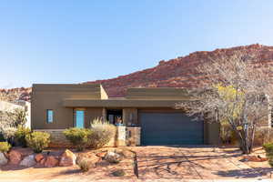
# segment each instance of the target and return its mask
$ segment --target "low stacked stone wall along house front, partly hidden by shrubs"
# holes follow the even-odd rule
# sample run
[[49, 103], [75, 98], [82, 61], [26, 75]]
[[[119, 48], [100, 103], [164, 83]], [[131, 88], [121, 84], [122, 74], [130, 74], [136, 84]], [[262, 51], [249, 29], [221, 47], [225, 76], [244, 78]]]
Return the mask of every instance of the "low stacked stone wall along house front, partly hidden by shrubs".
[[[73, 147], [63, 134], [64, 129], [39, 129], [35, 131], [50, 134], [49, 147]], [[116, 126], [116, 136], [111, 138], [106, 147], [139, 146], [140, 127]]]

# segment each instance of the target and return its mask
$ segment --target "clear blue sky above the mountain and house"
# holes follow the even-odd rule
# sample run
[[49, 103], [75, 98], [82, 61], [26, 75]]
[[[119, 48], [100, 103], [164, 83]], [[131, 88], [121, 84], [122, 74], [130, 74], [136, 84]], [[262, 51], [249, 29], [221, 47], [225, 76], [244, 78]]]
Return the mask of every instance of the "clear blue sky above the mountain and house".
[[2, 1], [0, 87], [121, 76], [159, 60], [273, 45], [272, 0]]

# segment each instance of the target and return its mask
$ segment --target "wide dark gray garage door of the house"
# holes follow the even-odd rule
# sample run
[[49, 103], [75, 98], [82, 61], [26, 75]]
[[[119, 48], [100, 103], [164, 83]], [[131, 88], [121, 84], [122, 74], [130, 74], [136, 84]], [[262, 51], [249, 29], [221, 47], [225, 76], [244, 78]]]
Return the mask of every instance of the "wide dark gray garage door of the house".
[[203, 122], [182, 113], [140, 113], [142, 145], [204, 143]]

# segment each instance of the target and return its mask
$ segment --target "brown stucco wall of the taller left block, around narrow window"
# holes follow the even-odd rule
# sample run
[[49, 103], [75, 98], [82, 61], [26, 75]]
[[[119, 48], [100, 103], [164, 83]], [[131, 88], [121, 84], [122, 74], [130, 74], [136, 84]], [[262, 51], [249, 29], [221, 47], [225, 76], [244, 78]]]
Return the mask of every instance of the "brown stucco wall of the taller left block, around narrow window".
[[[31, 105], [32, 128], [65, 129], [72, 127], [73, 108], [63, 106], [63, 100], [66, 98], [100, 99], [100, 88], [99, 85], [34, 85]], [[54, 111], [53, 123], [46, 123], [46, 109]], [[97, 112], [95, 113], [97, 116]]]

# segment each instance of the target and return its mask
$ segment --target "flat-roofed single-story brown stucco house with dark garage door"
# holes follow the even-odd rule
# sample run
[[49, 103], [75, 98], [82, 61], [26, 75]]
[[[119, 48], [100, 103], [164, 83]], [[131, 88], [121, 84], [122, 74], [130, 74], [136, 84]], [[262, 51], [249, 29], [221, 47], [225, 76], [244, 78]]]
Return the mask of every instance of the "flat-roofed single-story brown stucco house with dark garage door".
[[192, 99], [183, 88], [128, 88], [125, 97], [108, 97], [101, 85], [35, 84], [32, 129], [61, 140], [69, 127], [89, 127], [101, 117], [124, 128], [126, 145], [216, 145], [218, 124], [193, 120], [176, 103]]

